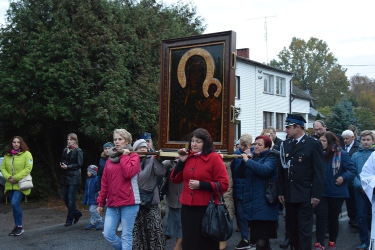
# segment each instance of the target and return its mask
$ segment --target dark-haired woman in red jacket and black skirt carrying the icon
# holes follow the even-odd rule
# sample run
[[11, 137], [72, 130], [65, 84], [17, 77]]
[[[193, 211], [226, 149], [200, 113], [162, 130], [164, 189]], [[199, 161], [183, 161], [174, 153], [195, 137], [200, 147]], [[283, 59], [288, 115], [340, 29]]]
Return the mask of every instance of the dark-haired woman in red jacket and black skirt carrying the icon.
[[215, 194], [214, 182], [225, 193], [229, 186], [228, 174], [219, 154], [215, 153], [211, 136], [205, 129], [196, 129], [189, 136], [189, 148], [181, 149], [179, 162], [170, 174], [173, 183], [184, 183], [181, 197], [182, 249], [218, 250], [219, 242], [206, 238], [201, 233], [201, 221]]

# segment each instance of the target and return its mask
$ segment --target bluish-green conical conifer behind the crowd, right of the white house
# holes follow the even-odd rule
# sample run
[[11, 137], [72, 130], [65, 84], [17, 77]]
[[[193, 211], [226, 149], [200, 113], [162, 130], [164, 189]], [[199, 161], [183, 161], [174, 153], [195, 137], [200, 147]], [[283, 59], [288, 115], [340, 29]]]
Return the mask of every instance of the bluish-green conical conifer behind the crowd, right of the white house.
[[358, 125], [358, 118], [355, 116], [353, 106], [346, 96], [342, 98], [341, 102], [336, 103], [331, 111], [326, 125], [333, 133], [341, 133], [350, 125]]

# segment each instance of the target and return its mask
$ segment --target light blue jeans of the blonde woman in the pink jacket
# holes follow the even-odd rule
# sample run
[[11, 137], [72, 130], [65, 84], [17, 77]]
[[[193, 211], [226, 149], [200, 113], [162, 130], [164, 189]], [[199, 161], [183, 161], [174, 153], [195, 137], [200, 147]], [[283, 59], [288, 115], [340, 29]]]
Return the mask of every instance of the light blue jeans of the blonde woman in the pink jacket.
[[[107, 208], [104, 221], [104, 239], [115, 250], [131, 249], [133, 245], [133, 226], [139, 205]], [[121, 219], [121, 239], [116, 235], [116, 227]]]

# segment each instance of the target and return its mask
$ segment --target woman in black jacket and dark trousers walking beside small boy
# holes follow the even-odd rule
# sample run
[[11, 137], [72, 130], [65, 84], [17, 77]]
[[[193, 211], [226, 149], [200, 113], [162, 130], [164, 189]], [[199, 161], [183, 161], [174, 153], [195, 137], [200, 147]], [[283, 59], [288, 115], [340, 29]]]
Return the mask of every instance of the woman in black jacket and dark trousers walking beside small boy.
[[83, 152], [78, 148], [76, 134], [67, 135], [67, 146], [62, 151], [60, 168], [61, 174], [61, 194], [67, 208], [65, 227], [77, 223], [82, 214], [76, 209], [75, 196], [78, 186], [81, 183], [80, 169], [83, 165]]

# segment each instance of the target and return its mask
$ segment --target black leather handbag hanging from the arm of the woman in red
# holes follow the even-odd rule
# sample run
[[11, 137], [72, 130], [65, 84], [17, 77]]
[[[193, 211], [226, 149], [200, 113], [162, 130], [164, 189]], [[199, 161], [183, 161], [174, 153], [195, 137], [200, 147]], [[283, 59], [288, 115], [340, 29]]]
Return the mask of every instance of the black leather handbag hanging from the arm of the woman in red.
[[[224, 242], [233, 234], [233, 222], [225, 206], [221, 186], [215, 182], [219, 204], [215, 205], [213, 192], [202, 219], [202, 235], [215, 241]], [[220, 191], [220, 192], [219, 192]]]

